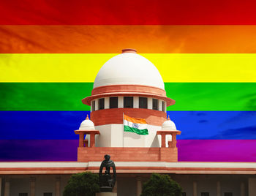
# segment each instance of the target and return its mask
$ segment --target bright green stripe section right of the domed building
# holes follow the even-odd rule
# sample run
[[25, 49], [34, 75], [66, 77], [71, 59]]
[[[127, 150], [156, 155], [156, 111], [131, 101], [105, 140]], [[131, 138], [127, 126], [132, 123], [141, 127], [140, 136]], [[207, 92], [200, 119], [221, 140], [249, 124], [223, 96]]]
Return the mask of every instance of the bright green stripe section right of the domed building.
[[176, 100], [168, 110], [256, 110], [256, 83], [165, 83], [165, 91]]

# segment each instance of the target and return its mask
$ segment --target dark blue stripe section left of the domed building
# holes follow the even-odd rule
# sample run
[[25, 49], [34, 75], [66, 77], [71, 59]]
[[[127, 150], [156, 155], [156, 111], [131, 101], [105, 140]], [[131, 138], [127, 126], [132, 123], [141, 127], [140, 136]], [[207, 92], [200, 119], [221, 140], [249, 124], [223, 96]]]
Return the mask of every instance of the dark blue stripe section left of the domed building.
[[0, 140], [75, 140], [89, 111], [0, 111]]

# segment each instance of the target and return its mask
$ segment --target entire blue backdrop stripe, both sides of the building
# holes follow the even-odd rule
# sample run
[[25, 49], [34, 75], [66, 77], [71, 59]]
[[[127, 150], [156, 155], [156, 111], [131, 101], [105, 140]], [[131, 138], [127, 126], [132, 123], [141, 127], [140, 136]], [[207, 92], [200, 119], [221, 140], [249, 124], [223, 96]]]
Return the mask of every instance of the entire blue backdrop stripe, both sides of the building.
[[[89, 111], [0, 111], [0, 140], [75, 140]], [[256, 140], [256, 111], [169, 111], [178, 139]]]

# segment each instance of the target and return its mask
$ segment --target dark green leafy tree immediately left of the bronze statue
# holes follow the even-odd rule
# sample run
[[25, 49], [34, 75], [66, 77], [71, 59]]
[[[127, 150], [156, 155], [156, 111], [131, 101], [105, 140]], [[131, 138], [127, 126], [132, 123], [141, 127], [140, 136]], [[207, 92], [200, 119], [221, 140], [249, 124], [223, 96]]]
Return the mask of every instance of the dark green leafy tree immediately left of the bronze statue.
[[94, 196], [99, 192], [99, 176], [84, 172], [73, 174], [65, 186], [64, 196]]

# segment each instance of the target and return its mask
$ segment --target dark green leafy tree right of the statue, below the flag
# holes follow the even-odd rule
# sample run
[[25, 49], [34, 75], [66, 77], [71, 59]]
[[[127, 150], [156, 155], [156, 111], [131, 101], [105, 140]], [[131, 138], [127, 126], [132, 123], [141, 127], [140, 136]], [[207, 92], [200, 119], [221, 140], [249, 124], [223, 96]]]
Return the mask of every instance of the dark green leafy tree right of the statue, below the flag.
[[181, 196], [181, 186], [168, 175], [152, 173], [140, 196]]

